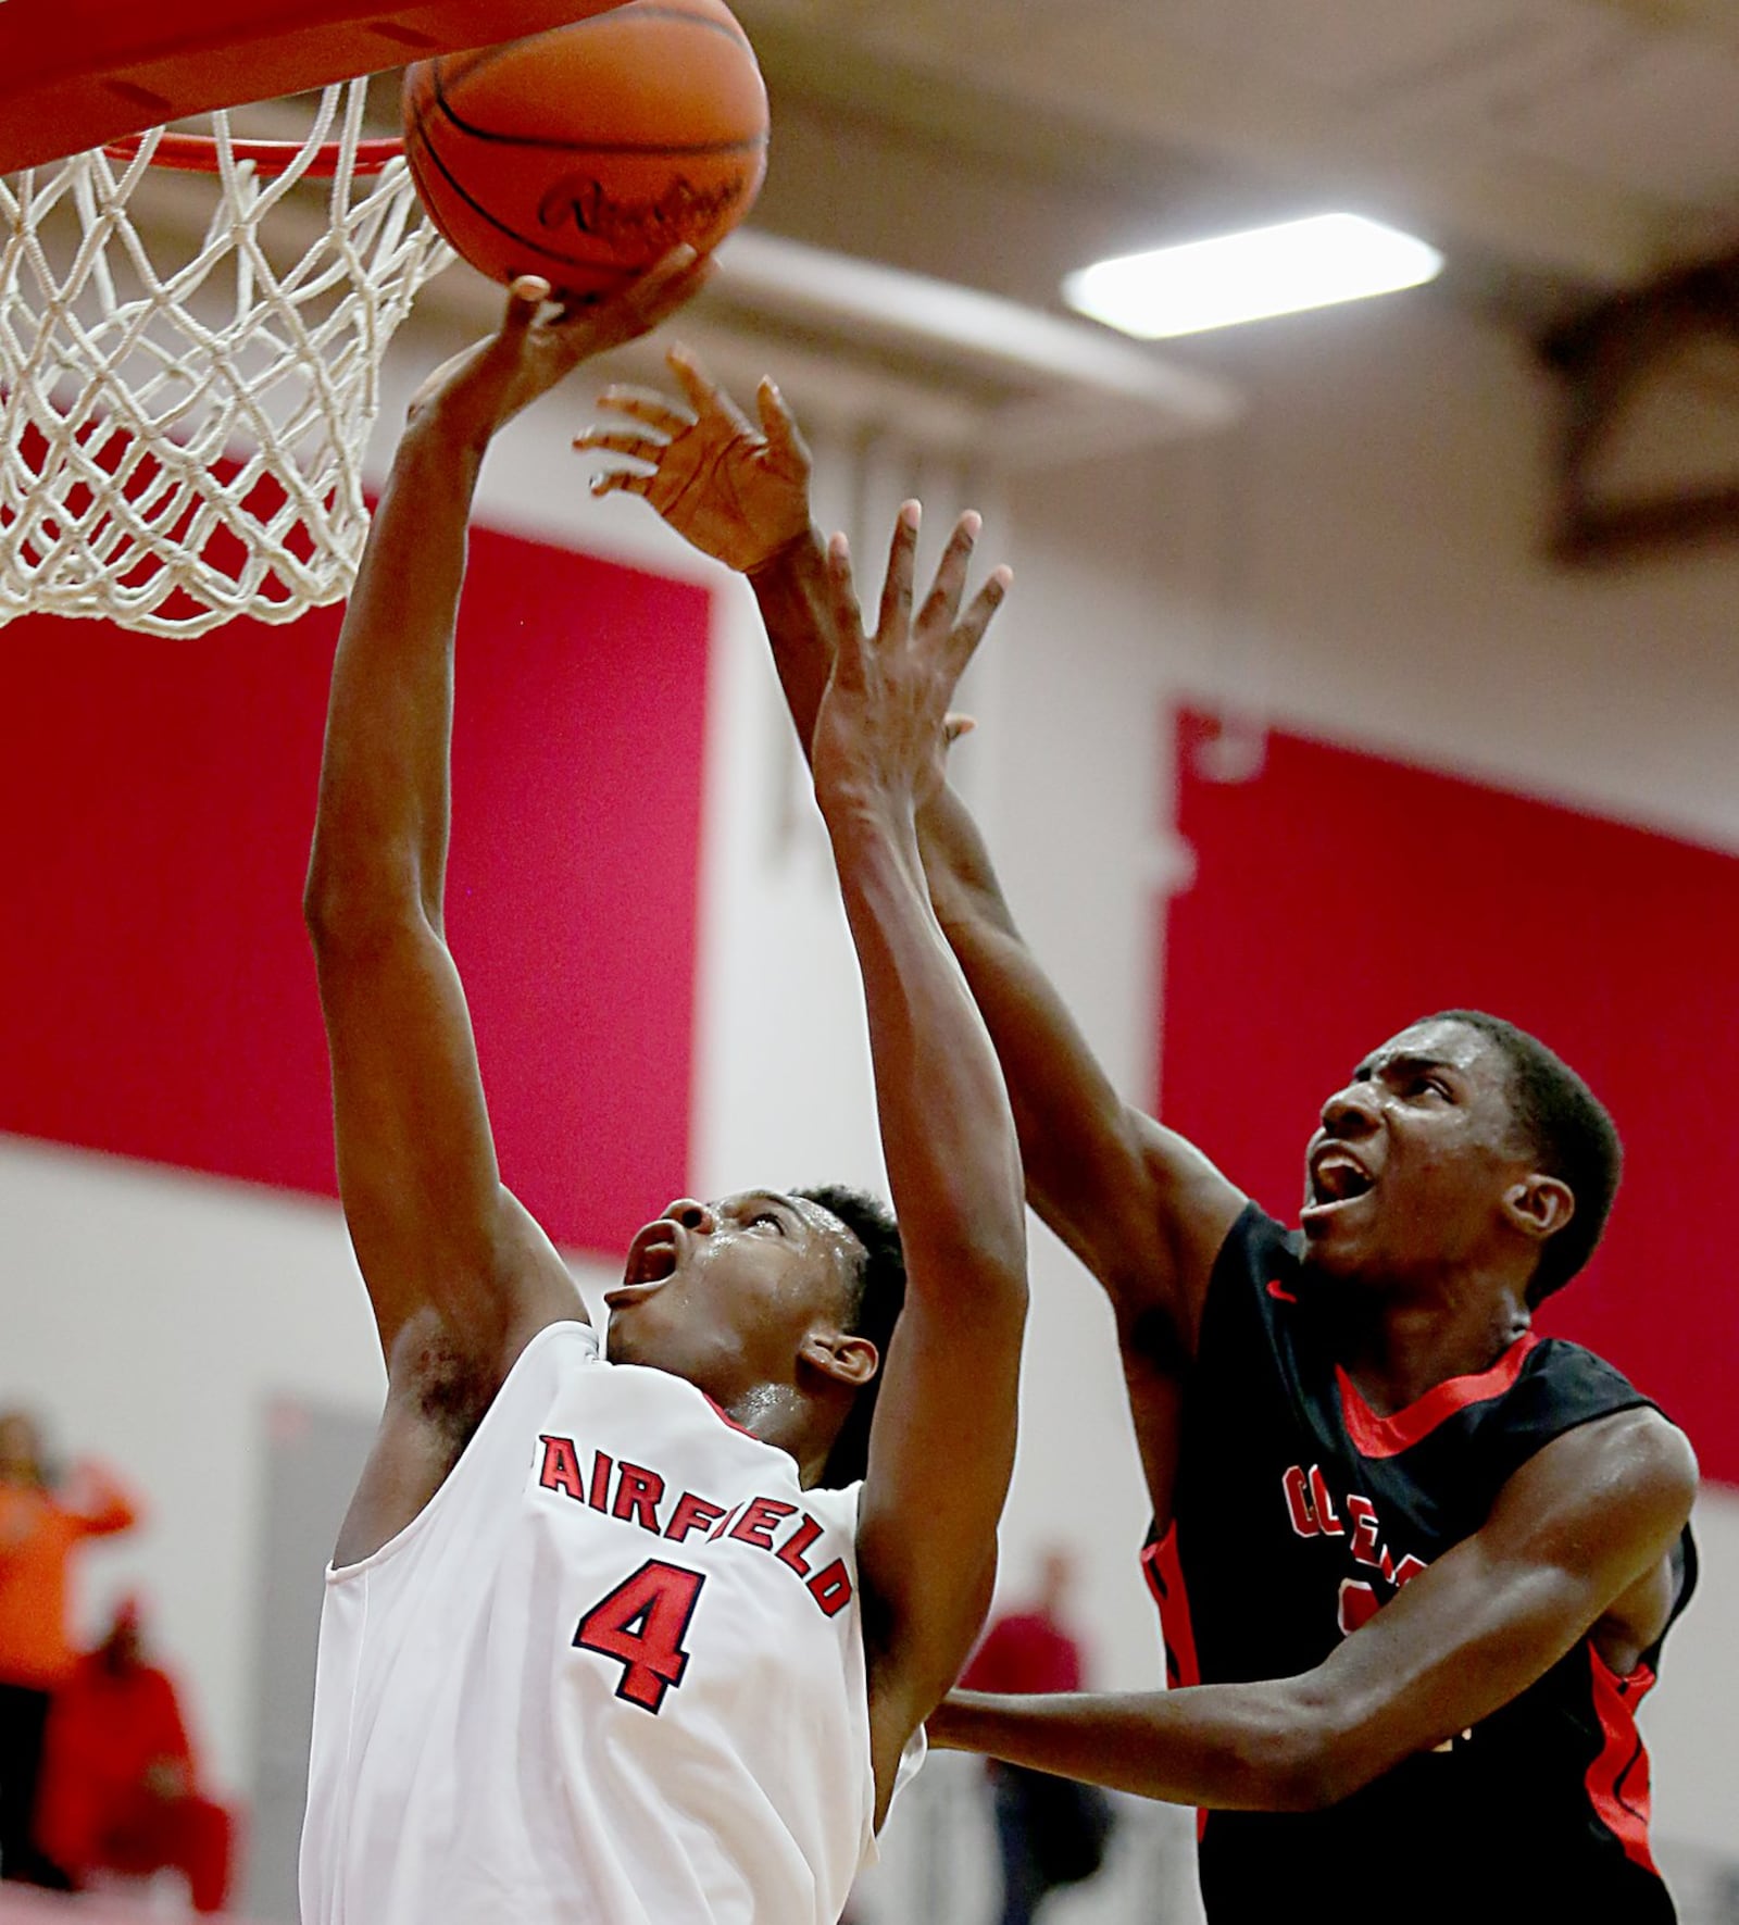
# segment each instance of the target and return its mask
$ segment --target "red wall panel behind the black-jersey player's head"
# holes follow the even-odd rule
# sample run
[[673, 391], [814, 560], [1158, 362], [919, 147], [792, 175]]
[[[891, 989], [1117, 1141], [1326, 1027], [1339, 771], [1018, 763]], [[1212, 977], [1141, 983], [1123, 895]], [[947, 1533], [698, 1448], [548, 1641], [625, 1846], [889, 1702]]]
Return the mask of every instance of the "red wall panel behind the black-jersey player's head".
[[1296, 1222], [1317, 1107], [1367, 1049], [1444, 1007], [1533, 1030], [1625, 1142], [1606, 1242], [1543, 1326], [1739, 1482], [1739, 860], [1298, 735], [1215, 783], [1207, 730], [1177, 718], [1198, 880], [1165, 930], [1165, 1120]]

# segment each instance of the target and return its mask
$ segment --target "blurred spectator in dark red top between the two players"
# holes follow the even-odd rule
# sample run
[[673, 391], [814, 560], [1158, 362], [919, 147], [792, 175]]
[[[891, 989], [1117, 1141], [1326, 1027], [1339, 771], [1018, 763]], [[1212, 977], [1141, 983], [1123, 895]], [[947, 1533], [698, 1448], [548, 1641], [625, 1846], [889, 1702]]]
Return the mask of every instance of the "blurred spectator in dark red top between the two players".
[[[961, 1679], [967, 1690], [1080, 1690], [1080, 1646], [1063, 1627], [1071, 1578], [1069, 1553], [1046, 1552], [1036, 1604], [996, 1619]], [[988, 1771], [1003, 1875], [1001, 1925], [1030, 1925], [1051, 1890], [1100, 1869], [1111, 1806], [1092, 1784], [1021, 1765], [990, 1763]]]

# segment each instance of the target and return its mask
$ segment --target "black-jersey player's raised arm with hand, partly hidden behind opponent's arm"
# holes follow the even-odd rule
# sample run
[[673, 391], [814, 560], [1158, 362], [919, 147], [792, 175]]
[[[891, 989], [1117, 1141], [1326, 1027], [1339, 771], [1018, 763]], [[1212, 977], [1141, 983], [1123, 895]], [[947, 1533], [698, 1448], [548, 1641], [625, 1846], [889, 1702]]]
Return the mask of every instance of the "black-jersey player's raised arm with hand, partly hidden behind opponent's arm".
[[[676, 350], [682, 402], [610, 389], [578, 447], [645, 472], [601, 475], [599, 493], [649, 500], [705, 554], [745, 574], [809, 751], [830, 668], [828, 564], [809, 516], [809, 456], [778, 389], [761, 383], [751, 424]], [[1026, 1194], [1088, 1265], [1119, 1317], [1130, 1401], [1155, 1505], [1169, 1503], [1173, 1405], [1213, 1257], [1244, 1205], [1181, 1136], [1125, 1103], [1021, 939], [984, 839], [942, 787], [921, 822], [936, 914], [996, 1043], [1026, 1167]]]

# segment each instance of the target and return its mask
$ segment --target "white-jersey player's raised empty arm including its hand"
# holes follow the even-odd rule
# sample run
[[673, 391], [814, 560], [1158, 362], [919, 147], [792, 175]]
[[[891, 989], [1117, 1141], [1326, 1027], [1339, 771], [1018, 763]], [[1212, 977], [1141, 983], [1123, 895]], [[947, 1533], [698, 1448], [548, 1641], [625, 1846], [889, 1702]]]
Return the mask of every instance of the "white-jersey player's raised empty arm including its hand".
[[947, 699], [1003, 597], [961, 614], [976, 518], [913, 618], [907, 502], [867, 639], [844, 537], [830, 554], [832, 680], [815, 732], [820, 803], [857, 945], [905, 1309], [882, 1359], [857, 1527], [882, 1806], [899, 1752], [959, 1675], [996, 1577], [1015, 1461], [1026, 1230], [990, 1038], [930, 911], [915, 814], [942, 778]]

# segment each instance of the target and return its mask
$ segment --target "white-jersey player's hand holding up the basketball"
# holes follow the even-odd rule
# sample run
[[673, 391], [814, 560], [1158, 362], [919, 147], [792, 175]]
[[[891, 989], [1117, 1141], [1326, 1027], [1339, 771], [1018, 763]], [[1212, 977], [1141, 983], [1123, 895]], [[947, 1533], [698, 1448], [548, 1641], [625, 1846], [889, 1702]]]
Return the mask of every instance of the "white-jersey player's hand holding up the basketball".
[[711, 258], [697, 258], [691, 246], [672, 248], [620, 293], [587, 306], [564, 306], [549, 318], [541, 312], [551, 298], [549, 281], [520, 275], [508, 293], [501, 327], [443, 362], [424, 381], [410, 402], [410, 420], [439, 418], [481, 447], [580, 362], [651, 333], [691, 300], [711, 273]]

